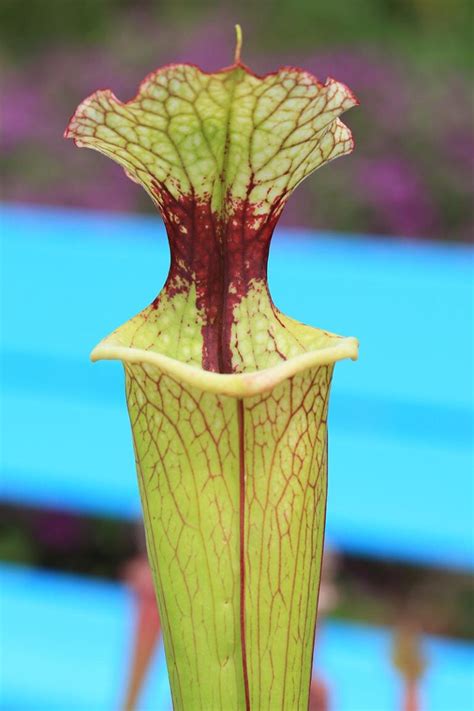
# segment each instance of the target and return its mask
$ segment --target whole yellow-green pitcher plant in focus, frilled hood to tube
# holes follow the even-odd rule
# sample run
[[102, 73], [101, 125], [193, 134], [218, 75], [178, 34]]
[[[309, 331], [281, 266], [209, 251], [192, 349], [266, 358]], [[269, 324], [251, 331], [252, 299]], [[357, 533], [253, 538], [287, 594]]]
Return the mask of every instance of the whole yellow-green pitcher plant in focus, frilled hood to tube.
[[66, 131], [143, 185], [170, 243], [157, 298], [92, 357], [125, 365], [175, 709], [307, 708], [329, 385], [357, 341], [282, 314], [267, 259], [292, 190], [351, 151], [355, 103], [237, 56], [158, 69], [127, 103], [99, 91]]

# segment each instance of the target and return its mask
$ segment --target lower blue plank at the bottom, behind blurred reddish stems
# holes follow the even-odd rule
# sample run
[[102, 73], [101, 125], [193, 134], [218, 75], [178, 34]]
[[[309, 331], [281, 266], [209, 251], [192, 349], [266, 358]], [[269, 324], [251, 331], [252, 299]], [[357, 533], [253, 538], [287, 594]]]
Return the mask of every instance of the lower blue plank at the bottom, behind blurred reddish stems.
[[[113, 711], [126, 683], [133, 604], [119, 585], [0, 567], [0, 707], [9, 711]], [[8, 653], [7, 653], [8, 651]], [[400, 708], [390, 664], [391, 635], [326, 622], [315, 668], [329, 684], [333, 711]], [[467, 711], [474, 703], [474, 647], [426, 639], [422, 708]], [[139, 711], [168, 711], [163, 648], [155, 655]]]

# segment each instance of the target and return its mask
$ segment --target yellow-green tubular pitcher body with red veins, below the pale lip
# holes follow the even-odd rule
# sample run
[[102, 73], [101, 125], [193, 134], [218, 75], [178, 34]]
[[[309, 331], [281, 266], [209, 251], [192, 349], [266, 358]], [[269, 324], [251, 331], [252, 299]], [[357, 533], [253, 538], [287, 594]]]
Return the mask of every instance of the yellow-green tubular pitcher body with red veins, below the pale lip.
[[306, 709], [332, 366], [238, 400], [127, 371], [175, 709]]

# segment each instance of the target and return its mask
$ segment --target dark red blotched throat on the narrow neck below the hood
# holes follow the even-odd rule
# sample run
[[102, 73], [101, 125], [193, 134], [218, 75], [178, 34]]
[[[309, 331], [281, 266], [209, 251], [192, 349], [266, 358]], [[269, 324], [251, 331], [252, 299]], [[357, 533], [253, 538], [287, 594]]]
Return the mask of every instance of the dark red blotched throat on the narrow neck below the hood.
[[[231, 373], [231, 331], [234, 308], [252, 283], [267, 283], [267, 262], [273, 230], [283, 205], [263, 215], [248, 201], [226, 201], [229, 214], [211, 209], [211, 199], [173, 197], [155, 184], [171, 251], [165, 293], [196, 288], [196, 307], [204, 317], [202, 367]], [[160, 297], [155, 301], [156, 306]]]

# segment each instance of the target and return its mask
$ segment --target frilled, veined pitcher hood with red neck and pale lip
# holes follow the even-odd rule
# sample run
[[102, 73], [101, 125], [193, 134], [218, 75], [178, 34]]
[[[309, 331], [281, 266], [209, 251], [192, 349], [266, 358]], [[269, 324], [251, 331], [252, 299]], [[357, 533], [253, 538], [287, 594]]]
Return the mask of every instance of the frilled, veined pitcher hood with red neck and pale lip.
[[92, 359], [148, 363], [235, 397], [355, 359], [355, 338], [277, 309], [267, 260], [295, 187], [352, 151], [339, 116], [357, 103], [344, 84], [295, 67], [254, 74], [240, 60], [240, 43], [235, 63], [218, 72], [170, 64], [149, 74], [131, 101], [108, 89], [85, 99], [65, 136], [109, 156], [145, 188], [171, 251], [160, 294]]

